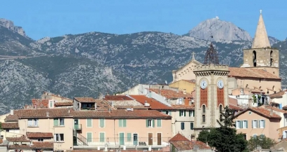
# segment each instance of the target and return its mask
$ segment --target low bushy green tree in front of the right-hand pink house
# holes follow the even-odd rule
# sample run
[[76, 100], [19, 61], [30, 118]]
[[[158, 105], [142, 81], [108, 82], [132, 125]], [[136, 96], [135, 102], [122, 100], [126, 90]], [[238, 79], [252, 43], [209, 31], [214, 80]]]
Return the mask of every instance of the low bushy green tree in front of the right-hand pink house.
[[260, 135], [259, 137], [251, 137], [248, 140], [248, 149], [250, 151], [255, 150], [256, 147], [261, 146], [263, 149], [269, 149], [276, 144], [274, 139], [265, 137], [265, 135]]

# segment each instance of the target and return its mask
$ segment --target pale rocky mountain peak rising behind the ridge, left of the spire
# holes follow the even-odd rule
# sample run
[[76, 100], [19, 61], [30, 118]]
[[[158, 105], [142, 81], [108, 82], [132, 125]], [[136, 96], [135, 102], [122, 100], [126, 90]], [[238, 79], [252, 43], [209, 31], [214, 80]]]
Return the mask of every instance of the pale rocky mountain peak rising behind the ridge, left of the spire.
[[189, 36], [207, 41], [252, 41], [248, 32], [234, 25], [216, 18], [200, 22], [188, 32]]

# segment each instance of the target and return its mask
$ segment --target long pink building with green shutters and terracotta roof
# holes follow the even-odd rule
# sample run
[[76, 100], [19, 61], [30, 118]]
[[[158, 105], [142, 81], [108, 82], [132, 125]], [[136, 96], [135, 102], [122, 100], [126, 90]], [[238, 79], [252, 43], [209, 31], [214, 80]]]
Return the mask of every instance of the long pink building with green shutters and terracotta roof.
[[172, 117], [154, 110], [73, 111], [73, 118], [74, 148], [162, 148], [172, 137]]

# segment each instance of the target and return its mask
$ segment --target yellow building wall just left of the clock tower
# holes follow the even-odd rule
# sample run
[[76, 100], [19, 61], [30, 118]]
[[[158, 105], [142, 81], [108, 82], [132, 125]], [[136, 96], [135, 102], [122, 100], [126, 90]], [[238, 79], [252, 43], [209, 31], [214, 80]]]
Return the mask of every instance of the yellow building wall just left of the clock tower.
[[180, 80], [169, 84], [169, 87], [179, 88], [179, 90], [186, 90], [186, 92], [191, 93], [195, 90], [195, 80]]

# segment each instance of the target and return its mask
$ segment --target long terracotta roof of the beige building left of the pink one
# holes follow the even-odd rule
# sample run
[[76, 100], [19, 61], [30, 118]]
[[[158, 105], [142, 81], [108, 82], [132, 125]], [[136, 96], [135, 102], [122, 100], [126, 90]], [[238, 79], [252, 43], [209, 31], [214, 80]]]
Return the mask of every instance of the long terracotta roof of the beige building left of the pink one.
[[[71, 117], [73, 109], [59, 108], [59, 109], [20, 109], [15, 110], [14, 115], [8, 115], [10, 118], [57, 118], [57, 117]], [[48, 116], [47, 116], [48, 113]], [[5, 120], [8, 119], [8, 116]], [[18, 119], [17, 119], [18, 120]]]

